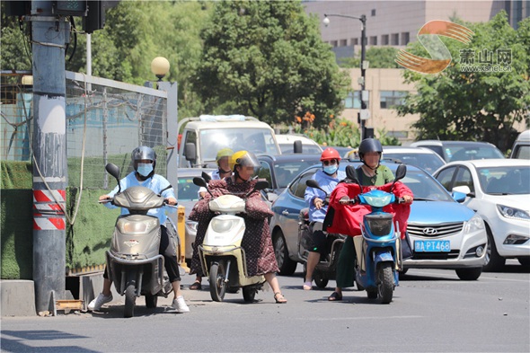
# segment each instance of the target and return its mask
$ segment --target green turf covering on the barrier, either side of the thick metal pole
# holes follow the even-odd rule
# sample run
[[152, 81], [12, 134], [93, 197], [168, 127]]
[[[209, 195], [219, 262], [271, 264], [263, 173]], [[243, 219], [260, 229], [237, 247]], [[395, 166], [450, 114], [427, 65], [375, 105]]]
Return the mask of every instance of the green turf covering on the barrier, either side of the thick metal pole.
[[[31, 163], [1, 161], [2, 279], [32, 279], [33, 215]], [[66, 190], [66, 210], [72, 217], [77, 188]], [[75, 224], [66, 225], [66, 267], [102, 265], [110, 246], [119, 209], [98, 203], [108, 190], [83, 190]]]

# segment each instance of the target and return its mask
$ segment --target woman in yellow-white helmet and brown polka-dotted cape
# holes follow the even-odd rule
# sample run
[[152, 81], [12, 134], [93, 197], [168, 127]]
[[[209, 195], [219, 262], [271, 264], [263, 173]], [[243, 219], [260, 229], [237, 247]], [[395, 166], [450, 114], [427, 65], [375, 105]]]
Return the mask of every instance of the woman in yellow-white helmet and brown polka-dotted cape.
[[[214, 198], [225, 194], [246, 194], [252, 190], [257, 182], [252, 180], [252, 175], [258, 166], [260, 166], [260, 163], [254, 154], [247, 151], [236, 152], [230, 158], [230, 167], [234, 174], [220, 181], [209, 181], [208, 190], [210, 190]], [[193, 243], [190, 274], [203, 275], [197, 247], [204, 240], [209, 221], [216, 216], [209, 210], [208, 202], [210, 199], [211, 196], [208, 193], [205, 199], [199, 200], [190, 213], [190, 220], [199, 223], [197, 236]], [[278, 278], [276, 278], [278, 264], [274, 256], [272, 240], [270, 239], [269, 216], [272, 216], [272, 212], [261, 199], [260, 192], [252, 192], [246, 198], [246, 213], [243, 215], [246, 229], [241, 245], [246, 255], [248, 275], [265, 276], [270, 287], [272, 287], [276, 302], [287, 303], [287, 299], [281, 294]]]

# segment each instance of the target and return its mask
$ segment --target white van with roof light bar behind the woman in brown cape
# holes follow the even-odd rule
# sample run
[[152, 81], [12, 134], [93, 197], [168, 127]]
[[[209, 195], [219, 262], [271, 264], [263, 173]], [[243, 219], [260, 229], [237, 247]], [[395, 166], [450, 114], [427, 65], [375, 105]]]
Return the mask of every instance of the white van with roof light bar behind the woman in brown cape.
[[234, 152], [281, 154], [274, 130], [259, 119], [243, 115], [201, 115], [179, 122], [181, 131], [179, 168], [216, 167], [216, 154], [222, 148]]

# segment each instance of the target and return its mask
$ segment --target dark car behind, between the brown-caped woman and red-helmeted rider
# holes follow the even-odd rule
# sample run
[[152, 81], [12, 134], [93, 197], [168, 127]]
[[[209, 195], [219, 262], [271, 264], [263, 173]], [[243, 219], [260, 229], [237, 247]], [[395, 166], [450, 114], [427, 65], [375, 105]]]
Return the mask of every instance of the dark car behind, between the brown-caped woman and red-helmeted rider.
[[258, 177], [269, 181], [269, 189], [262, 192], [272, 202], [299, 172], [319, 163], [320, 154], [260, 154], [258, 160], [261, 163]]

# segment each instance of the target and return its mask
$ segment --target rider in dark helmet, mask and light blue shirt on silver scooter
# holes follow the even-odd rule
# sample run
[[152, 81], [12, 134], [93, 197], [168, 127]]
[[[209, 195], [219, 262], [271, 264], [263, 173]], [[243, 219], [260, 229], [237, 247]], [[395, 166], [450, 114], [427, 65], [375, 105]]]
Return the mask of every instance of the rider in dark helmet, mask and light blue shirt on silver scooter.
[[[138, 146], [132, 151], [130, 158], [131, 162], [133, 163], [134, 172], [128, 173], [125, 178], [119, 181], [119, 187], [121, 190], [126, 190], [133, 186], [146, 187], [150, 190], [153, 190], [156, 194], [160, 194], [163, 190], [162, 196], [164, 199], [166, 199], [167, 203], [169, 205], [176, 205], [177, 199], [175, 198], [173, 189], [166, 189], [168, 186], [171, 186], [170, 182], [167, 181], [162, 175], [155, 174], [155, 150], [147, 146]], [[116, 188], [110, 191], [109, 194], [100, 196], [100, 200], [112, 199], [118, 192], [119, 187], [116, 186]], [[106, 203], [105, 207], [116, 208], [116, 206], [113, 206], [110, 203]], [[184, 297], [181, 296], [181, 276], [179, 273], [176, 251], [172, 245], [172, 242], [170, 241], [169, 235], [167, 234], [167, 229], [165, 227], [167, 216], [165, 214], [166, 209], [164, 208], [165, 207], [149, 209], [147, 215], [155, 216], [160, 221], [160, 246], [158, 252], [163, 255], [164, 267], [167, 271], [169, 280], [172, 283], [174, 294], [172, 307], [175, 308], [178, 313], [188, 313], [190, 308], [184, 301]], [[122, 215], [127, 215], [128, 213], [129, 212], [127, 208], [121, 208]], [[100, 310], [103, 304], [109, 303], [112, 300], [112, 294], [110, 292], [112, 282], [109, 279], [106, 269], [103, 273], [103, 278], [102, 293], [93, 299], [90, 304], [88, 304], [89, 310]]]

